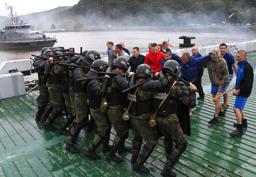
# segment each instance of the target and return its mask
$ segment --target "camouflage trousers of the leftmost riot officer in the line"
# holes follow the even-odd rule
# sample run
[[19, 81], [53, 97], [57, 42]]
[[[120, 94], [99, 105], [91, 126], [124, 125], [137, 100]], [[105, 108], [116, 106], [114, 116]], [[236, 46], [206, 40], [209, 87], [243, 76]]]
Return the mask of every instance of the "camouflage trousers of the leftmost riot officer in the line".
[[35, 114], [36, 119], [40, 120], [45, 107], [48, 104], [49, 101], [49, 92], [48, 92], [48, 88], [46, 86], [46, 84], [41, 84], [39, 86], [39, 96], [38, 96], [38, 110]]

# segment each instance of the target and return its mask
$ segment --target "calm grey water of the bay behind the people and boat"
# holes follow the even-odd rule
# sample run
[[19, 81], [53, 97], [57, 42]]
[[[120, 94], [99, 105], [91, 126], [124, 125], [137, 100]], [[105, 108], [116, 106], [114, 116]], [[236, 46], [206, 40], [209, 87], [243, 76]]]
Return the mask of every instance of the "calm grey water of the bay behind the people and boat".
[[[106, 41], [113, 41], [114, 44], [124, 42], [128, 50], [139, 47], [141, 52], [148, 52], [148, 43], [161, 44], [168, 40], [175, 47], [183, 43], [180, 36], [195, 36], [192, 43], [197, 46], [221, 44], [230, 42], [242, 42], [256, 39], [251, 34], [222, 34], [222, 33], [188, 33], [188, 32], [60, 32], [47, 33], [47, 36], [56, 36], [58, 43], [54, 47], [64, 46], [65, 48], [74, 47], [76, 52], [80, 52], [80, 47], [84, 50], [99, 51], [102, 57], [106, 56]], [[39, 54], [40, 50], [0, 50], [0, 61], [27, 59], [31, 54]]]

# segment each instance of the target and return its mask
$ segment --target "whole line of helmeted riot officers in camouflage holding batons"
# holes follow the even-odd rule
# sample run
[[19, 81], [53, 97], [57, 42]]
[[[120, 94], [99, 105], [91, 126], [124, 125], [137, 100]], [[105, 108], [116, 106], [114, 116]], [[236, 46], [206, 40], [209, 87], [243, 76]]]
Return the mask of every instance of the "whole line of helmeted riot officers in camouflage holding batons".
[[[55, 131], [53, 123], [65, 107], [67, 116], [59, 132], [67, 135], [68, 152], [79, 153], [74, 144], [81, 129], [95, 125], [96, 135], [86, 157], [100, 159], [95, 150], [102, 144], [101, 151], [108, 153], [106, 160], [121, 163], [123, 159], [116, 153], [131, 152], [133, 170], [149, 173], [144, 163], [163, 136], [167, 160], [161, 175], [176, 176], [172, 167], [186, 150], [185, 133], [190, 134], [189, 125], [181, 127], [179, 122], [196, 106], [195, 85], [177, 79], [181, 74], [178, 62], [168, 60], [155, 74], [148, 64], [141, 64], [134, 73], [128, 72], [126, 57], [118, 57], [108, 68], [97, 51], [75, 54], [49, 47], [35, 57], [33, 66], [38, 71], [40, 92], [35, 120], [46, 130]], [[112, 127], [116, 136], [109, 145]], [[132, 147], [125, 146], [129, 129], [134, 135]], [[141, 147], [143, 139], [146, 144]]]

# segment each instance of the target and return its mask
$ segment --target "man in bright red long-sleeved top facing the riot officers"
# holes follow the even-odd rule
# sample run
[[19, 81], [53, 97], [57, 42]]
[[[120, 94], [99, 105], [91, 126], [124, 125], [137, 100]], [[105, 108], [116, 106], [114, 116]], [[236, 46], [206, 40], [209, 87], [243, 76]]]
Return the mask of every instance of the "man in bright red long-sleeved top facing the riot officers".
[[148, 64], [153, 70], [153, 73], [155, 73], [162, 70], [162, 59], [164, 57], [164, 53], [159, 51], [157, 44], [153, 43], [151, 51], [145, 57], [144, 63]]

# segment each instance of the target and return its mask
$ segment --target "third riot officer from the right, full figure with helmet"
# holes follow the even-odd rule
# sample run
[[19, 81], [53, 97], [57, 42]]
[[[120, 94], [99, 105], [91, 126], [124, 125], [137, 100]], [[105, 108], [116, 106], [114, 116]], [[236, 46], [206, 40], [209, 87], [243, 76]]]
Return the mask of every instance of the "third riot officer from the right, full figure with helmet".
[[[111, 122], [112, 126], [116, 131], [115, 139], [113, 140], [113, 145], [107, 155], [108, 161], [114, 161], [116, 163], [121, 163], [122, 158], [115, 155], [117, 151], [128, 152], [132, 148], [124, 145], [125, 139], [127, 139], [129, 134], [128, 121], [122, 119], [123, 108], [125, 105], [126, 93], [121, 93], [122, 90], [129, 88], [134, 85], [134, 73], [129, 72], [128, 77], [131, 80], [126, 79], [125, 73], [128, 70], [129, 63], [126, 57], [118, 57], [112, 64], [111, 73], [119, 73], [119, 75], [111, 75], [109, 86], [109, 94], [107, 96], [108, 101], [108, 120]], [[120, 75], [122, 74], [122, 75]]]

